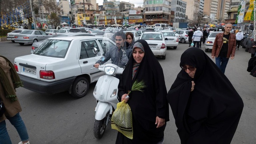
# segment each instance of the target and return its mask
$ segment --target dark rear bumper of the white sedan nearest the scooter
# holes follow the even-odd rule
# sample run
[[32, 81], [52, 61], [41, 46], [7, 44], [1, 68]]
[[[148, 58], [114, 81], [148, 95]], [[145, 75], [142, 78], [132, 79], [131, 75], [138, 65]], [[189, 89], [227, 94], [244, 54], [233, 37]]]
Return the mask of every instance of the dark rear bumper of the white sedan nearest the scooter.
[[56, 94], [68, 91], [75, 77], [58, 80], [54, 82], [46, 82], [18, 74], [23, 82], [24, 88], [42, 94]]

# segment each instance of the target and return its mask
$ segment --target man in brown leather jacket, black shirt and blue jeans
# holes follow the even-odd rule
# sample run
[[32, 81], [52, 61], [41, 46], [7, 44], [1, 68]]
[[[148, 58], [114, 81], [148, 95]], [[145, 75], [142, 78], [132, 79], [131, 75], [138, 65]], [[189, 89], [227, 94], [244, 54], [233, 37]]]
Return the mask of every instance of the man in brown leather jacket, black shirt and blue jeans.
[[233, 59], [236, 51], [236, 35], [230, 33], [232, 24], [226, 23], [224, 29], [223, 33], [216, 35], [212, 47], [212, 58], [216, 57], [215, 63], [223, 73], [225, 73], [229, 57]]

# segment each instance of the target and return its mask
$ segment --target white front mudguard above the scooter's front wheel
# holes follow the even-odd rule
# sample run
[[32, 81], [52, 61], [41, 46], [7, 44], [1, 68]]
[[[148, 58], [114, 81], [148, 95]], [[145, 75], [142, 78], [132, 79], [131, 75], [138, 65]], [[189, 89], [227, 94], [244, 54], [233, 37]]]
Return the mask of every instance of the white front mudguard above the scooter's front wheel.
[[112, 110], [111, 104], [99, 101], [95, 108], [95, 119], [102, 120], [107, 115], [107, 112], [110, 111], [112, 113]]

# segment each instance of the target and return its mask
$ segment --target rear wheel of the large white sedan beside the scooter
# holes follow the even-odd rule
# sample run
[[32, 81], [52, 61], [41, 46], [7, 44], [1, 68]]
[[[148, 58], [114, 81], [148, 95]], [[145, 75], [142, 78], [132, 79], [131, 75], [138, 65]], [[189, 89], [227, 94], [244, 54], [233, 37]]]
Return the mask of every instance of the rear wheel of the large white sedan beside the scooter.
[[89, 89], [89, 82], [85, 77], [77, 77], [72, 84], [71, 96], [82, 98], [86, 95]]

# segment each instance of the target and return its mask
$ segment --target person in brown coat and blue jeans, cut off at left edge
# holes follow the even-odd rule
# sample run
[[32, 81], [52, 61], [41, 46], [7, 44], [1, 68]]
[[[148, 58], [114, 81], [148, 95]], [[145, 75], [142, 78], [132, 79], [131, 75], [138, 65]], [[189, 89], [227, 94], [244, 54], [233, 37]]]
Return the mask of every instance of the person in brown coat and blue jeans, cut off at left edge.
[[27, 128], [19, 114], [21, 106], [15, 90], [23, 85], [12, 63], [3, 56], [0, 56], [0, 81], [0, 101], [5, 109], [0, 116], [0, 144], [12, 144], [6, 129], [6, 119], [16, 128], [21, 139], [19, 144], [30, 144]]

